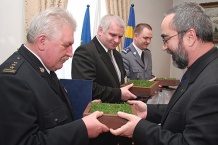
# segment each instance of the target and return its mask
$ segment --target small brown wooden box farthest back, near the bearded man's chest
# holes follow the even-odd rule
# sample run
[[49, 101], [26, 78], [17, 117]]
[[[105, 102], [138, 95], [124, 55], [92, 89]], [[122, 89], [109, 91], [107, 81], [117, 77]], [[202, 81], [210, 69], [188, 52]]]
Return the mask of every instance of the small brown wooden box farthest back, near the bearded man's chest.
[[175, 78], [157, 78], [156, 81], [161, 86], [178, 86], [180, 83], [180, 80], [176, 80]]

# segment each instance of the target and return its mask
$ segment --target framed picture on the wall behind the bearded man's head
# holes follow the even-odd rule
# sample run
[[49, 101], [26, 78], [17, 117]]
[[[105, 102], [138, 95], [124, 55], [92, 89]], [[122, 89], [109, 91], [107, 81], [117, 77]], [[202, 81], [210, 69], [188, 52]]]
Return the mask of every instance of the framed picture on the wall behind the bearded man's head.
[[213, 41], [218, 43], [218, 2], [209, 2], [200, 4], [209, 15], [213, 25]]

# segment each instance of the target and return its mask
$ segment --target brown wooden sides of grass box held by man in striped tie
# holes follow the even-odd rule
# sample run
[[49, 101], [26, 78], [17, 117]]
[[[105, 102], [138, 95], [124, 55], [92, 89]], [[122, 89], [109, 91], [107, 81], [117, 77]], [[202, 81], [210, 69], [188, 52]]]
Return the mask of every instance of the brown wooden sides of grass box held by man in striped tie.
[[[150, 86], [137, 86], [135, 82], [151, 82], [152, 84]], [[133, 83], [134, 86], [130, 88], [130, 92], [132, 92], [134, 95], [143, 97], [143, 96], [153, 96], [158, 91], [158, 82], [157, 81], [147, 81], [147, 80], [130, 80], [129, 82], [121, 85], [121, 87], [126, 86], [128, 84]], [[138, 82], [137, 82], [138, 83]]]

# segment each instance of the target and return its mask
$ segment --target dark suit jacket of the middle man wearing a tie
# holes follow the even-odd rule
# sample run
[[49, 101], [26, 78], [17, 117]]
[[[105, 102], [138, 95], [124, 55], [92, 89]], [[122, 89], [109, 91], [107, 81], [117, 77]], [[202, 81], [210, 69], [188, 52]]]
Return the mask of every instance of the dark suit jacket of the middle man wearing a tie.
[[93, 99], [102, 102], [120, 102], [120, 84], [124, 83], [123, 60], [117, 50], [113, 51], [121, 72], [121, 83], [109, 55], [94, 37], [92, 41], [78, 47], [72, 60], [72, 79], [93, 80]]

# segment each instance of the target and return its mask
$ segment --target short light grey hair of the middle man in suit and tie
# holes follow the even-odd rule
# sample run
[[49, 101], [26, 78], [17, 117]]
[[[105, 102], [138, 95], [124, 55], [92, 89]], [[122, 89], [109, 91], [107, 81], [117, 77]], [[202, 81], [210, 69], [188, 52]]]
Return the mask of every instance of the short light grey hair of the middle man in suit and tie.
[[105, 32], [108, 29], [108, 27], [110, 26], [111, 22], [116, 23], [121, 28], [125, 28], [125, 23], [124, 23], [123, 19], [121, 19], [117, 15], [112, 15], [112, 14], [108, 14], [108, 15], [103, 16], [99, 22], [99, 27], [102, 28], [103, 32]]

